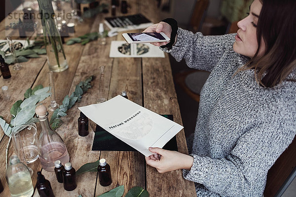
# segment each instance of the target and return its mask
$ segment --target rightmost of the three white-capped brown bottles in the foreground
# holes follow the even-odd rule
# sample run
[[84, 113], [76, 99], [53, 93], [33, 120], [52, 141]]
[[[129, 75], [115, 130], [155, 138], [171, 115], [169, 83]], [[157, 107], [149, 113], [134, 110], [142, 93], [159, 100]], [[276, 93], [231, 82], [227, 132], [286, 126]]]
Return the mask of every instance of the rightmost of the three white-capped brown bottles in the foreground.
[[98, 166], [99, 181], [102, 186], [109, 186], [112, 183], [110, 165], [105, 159], [100, 159]]

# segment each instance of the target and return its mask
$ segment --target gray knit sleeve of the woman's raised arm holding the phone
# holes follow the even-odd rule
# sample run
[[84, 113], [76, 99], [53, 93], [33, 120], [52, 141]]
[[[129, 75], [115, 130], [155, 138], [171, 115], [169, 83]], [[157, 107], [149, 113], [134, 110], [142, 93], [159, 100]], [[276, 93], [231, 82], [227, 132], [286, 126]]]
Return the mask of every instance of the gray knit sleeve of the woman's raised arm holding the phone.
[[235, 33], [208, 35], [192, 33], [178, 28], [177, 40], [172, 48], [161, 48], [180, 62], [183, 58], [191, 68], [212, 71], [228, 48], [232, 48]]

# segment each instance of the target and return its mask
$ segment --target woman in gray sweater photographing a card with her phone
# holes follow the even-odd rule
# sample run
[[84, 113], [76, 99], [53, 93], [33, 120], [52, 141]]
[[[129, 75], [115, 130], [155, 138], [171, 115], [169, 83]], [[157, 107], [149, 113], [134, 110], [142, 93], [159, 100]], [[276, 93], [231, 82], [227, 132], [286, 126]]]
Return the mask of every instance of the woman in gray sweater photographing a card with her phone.
[[184, 169], [198, 197], [262, 196], [268, 169], [296, 134], [295, 10], [295, 0], [254, 0], [238, 32], [222, 36], [193, 34], [171, 19], [144, 31], [172, 36], [153, 44], [211, 71], [191, 155], [149, 148], [147, 164]]

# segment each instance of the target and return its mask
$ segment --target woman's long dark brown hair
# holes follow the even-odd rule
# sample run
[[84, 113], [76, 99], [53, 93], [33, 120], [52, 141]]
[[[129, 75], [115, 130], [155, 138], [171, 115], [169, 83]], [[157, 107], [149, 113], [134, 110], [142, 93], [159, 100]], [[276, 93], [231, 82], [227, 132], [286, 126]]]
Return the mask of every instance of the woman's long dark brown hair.
[[[270, 88], [285, 80], [296, 68], [296, 0], [260, 1], [258, 49], [242, 69], [255, 68], [256, 80]], [[265, 53], [258, 57], [261, 38], [265, 42]], [[295, 77], [289, 80], [296, 81]]]

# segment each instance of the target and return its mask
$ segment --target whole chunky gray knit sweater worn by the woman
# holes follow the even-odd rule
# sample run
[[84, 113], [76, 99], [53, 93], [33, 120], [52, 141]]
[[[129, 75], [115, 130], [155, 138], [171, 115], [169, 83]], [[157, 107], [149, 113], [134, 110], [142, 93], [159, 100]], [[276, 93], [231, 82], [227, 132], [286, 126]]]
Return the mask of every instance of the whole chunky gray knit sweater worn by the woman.
[[263, 88], [254, 70], [233, 76], [249, 60], [233, 51], [235, 34], [179, 28], [177, 35], [172, 49], [162, 50], [211, 71], [200, 94], [193, 165], [184, 178], [195, 182], [198, 197], [261, 197], [268, 169], [296, 134], [296, 82]]

